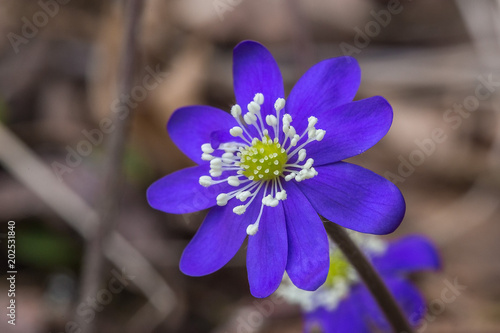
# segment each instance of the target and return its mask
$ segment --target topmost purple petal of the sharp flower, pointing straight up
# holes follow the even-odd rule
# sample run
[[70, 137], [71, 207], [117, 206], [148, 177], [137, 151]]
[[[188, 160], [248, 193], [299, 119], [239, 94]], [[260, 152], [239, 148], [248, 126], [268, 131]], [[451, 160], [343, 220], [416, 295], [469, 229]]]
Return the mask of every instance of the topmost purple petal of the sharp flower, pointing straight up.
[[262, 116], [274, 113], [274, 102], [284, 98], [283, 79], [271, 53], [261, 44], [244, 41], [233, 52], [233, 79], [236, 102], [243, 113], [255, 94], [264, 95]]

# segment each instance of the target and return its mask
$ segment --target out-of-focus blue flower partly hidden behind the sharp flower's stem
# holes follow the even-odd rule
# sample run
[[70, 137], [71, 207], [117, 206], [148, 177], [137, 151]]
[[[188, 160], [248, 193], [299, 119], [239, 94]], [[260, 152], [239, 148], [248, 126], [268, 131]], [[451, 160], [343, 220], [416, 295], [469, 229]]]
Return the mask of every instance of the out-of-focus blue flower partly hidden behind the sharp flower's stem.
[[[386, 244], [379, 239], [358, 239], [410, 323], [417, 326], [425, 315], [425, 301], [409, 282], [409, 273], [435, 270], [440, 259], [434, 245], [425, 237], [412, 235]], [[304, 331], [323, 333], [391, 332], [389, 323], [375, 299], [360, 281], [340, 250], [331, 251], [330, 274], [314, 292], [299, 290], [285, 277], [277, 291], [304, 310]]]

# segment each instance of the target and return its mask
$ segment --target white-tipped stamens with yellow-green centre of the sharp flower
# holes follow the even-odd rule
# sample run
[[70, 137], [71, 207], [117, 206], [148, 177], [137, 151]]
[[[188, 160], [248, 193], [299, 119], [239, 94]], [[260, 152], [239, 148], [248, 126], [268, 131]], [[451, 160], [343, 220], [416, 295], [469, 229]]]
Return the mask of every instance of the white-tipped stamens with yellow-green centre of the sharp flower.
[[[259, 216], [255, 223], [248, 226], [249, 235], [257, 232], [264, 206], [276, 207], [279, 201], [286, 200], [282, 179], [300, 182], [318, 174], [313, 167], [314, 160], [306, 160], [304, 147], [310, 142], [321, 141], [325, 136], [324, 130], [315, 128], [318, 121], [316, 117], [309, 117], [308, 126], [301, 135], [291, 125], [292, 117], [289, 114], [282, 116], [280, 124], [280, 112], [285, 107], [283, 98], [278, 98], [274, 103], [276, 116], [267, 115], [263, 119], [263, 104], [264, 96], [258, 93], [247, 105], [248, 112], [244, 115], [241, 107], [234, 105], [231, 115], [238, 126], [231, 128], [229, 133], [235, 140], [222, 143], [219, 147], [212, 147], [210, 143], [201, 146], [201, 158], [210, 161], [210, 176], [200, 177], [200, 184], [208, 187], [227, 182], [236, 187], [234, 191], [217, 196], [219, 206], [226, 205], [232, 198], [246, 202], [233, 208], [234, 213], [241, 215], [263, 188]], [[250, 134], [252, 127], [257, 137]], [[225, 172], [231, 175], [221, 177]]]

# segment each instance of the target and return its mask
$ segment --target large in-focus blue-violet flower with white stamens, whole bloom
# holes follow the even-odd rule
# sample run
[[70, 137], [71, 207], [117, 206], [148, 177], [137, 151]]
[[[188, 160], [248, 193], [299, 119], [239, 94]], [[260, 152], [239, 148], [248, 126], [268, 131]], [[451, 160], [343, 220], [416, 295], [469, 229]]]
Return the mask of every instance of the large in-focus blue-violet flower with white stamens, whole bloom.
[[286, 102], [278, 65], [261, 44], [235, 47], [233, 75], [231, 113], [188, 106], [170, 118], [170, 137], [198, 165], [152, 184], [149, 204], [174, 214], [211, 208], [182, 255], [185, 274], [217, 271], [249, 235], [254, 296], [274, 292], [285, 270], [296, 286], [315, 290], [329, 262], [318, 214], [364, 233], [390, 233], [401, 223], [397, 187], [342, 162], [387, 133], [391, 106], [378, 96], [352, 101], [361, 73], [350, 57], [313, 66]]

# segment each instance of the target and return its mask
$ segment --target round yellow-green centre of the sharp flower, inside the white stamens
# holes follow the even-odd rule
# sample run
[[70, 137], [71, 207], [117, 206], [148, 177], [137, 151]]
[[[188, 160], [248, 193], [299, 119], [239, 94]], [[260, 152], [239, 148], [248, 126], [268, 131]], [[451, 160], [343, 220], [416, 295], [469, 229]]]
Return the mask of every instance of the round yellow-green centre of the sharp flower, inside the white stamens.
[[266, 135], [262, 141], [254, 139], [252, 146], [241, 150], [240, 165], [242, 174], [250, 180], [272, 180], [283, 174], [287, 160], [278, 139], [271, 140]]

